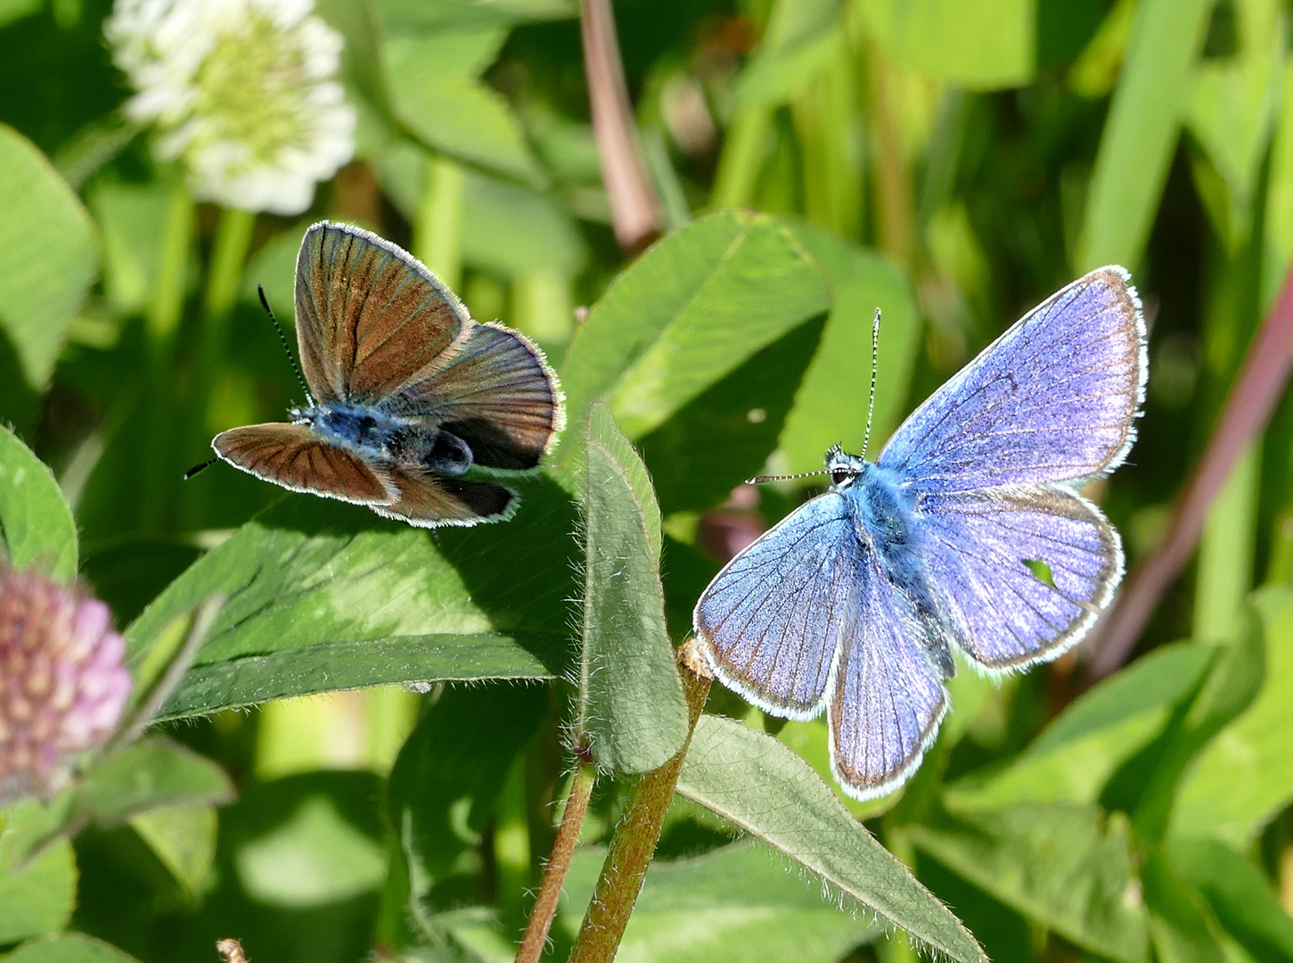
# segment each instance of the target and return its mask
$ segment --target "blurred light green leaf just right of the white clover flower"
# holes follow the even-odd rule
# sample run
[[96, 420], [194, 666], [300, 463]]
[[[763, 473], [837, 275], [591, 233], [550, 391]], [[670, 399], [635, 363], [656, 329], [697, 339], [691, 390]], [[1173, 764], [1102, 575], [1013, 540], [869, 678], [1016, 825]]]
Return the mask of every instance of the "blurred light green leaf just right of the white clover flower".
[[[487, 170], [539, 181], [542, 173], [502, 96], [476, 80], [499, 34], [423, 34], [387, 41], [396, 115], [425, 145]], [[443, 67], [441, 66], [443, 65]]]

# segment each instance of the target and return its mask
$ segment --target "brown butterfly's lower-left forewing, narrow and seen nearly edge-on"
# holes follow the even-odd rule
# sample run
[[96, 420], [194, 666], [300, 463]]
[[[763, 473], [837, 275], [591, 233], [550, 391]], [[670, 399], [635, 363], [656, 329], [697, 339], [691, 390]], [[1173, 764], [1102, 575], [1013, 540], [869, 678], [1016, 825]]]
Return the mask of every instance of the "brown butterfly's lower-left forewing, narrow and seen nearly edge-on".
[[250, 425], [211, 441], [221, 458], [259, 479], [359, 505], [389, 505], [394, 489], [384, 475], [340, 448], [321, 441], [304, 425]]

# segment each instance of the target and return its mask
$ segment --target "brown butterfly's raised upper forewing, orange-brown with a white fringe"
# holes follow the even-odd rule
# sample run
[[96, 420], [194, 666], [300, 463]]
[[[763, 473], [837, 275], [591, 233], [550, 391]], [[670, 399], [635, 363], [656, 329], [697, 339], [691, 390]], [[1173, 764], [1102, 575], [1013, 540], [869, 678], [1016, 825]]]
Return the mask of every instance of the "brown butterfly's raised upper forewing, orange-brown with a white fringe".
[[407, 251], [319, 221], [296, 255], [296, 339], [318, 401], [384, 399], [445, 352], [467, 309]]

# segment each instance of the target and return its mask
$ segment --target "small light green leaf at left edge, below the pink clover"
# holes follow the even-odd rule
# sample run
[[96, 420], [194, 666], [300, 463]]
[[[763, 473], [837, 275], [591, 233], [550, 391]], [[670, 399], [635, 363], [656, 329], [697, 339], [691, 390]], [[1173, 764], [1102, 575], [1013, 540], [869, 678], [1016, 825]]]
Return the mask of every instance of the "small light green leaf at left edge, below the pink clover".
[[45, 808], [27, 800], [0, 813], [0, 945], [62, 929], [76, 903], [76, 857], [56, 840], [28, 861], [32, 837], [47, 826]]

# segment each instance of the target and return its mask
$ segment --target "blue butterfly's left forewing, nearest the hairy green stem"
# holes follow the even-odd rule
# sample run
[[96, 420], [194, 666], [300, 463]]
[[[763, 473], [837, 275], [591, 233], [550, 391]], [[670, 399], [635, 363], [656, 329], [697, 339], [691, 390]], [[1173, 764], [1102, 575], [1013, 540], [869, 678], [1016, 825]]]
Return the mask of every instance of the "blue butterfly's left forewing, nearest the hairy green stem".
[[728, 562], [693, 614], [723, 683], [778, 716], [816, 716], [855, 607], [860, 558], [848, 505], [831, 492]]

